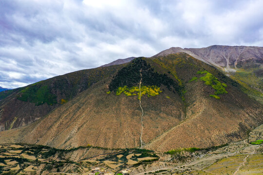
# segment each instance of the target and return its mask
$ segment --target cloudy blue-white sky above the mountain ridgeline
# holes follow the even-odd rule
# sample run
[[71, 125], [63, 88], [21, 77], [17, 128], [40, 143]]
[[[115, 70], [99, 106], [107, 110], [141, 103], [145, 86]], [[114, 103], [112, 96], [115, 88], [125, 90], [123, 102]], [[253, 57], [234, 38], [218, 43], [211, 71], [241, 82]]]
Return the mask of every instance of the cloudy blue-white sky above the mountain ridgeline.
[[263, 46], [263, 0], [0, 0], [0, 86], [170, 47]]

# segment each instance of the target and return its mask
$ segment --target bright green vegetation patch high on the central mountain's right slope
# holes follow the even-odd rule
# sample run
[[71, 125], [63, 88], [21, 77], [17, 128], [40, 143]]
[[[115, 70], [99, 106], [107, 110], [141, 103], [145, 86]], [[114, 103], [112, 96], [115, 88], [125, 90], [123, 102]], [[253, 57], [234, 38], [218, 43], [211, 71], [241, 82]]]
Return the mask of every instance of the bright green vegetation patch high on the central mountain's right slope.
[[214, 95], [210, 95], [210, 97], [220, 99], [219, 94], [226, 94], [228, 93], [225, 88], [227, 87], [226, 84], [220, 83], [218, 79], [211, 73], [209, 73], [207, 70], [200, 70], [197, 72], [198, 74], [206, 74], [203, 77], [200, 77], [200, 80], [204, 81], [206, 85], [211, 86], [213, 89], [215, 89]]

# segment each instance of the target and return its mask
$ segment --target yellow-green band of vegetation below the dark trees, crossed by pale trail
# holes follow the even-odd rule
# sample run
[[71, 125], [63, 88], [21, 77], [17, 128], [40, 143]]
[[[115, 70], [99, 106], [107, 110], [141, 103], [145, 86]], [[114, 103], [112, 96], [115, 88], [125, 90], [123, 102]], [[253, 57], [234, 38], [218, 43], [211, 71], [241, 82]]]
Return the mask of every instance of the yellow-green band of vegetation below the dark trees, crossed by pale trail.
[[160, 92], [162, 91], [160, 90], [160, 87], [157, 86], [141, 86], [141, 89], [139, 89], [139, 87], [128, 88], [127, 86], [124, 86], [119, 87], [116, 90], [116, 95], [120, 95], [121, 93], [124, 93], [127, 96], [138, 95], [138, 99], [140, 100], [143, 95], [147, 94], [148, 97], [156, 96], [159, 95]]

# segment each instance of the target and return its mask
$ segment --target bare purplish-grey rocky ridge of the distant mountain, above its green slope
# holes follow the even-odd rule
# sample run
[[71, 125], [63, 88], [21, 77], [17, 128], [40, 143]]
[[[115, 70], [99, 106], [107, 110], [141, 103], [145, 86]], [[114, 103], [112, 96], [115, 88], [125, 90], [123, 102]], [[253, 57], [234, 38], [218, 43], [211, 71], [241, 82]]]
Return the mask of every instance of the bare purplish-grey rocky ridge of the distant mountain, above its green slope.
[[263, 47], [255, 46], [209, 46], [207, 48], [172, 47], [153, 57], [185, 52], [210, 65], [221, 68], [241, 68], [245, 63], [263, 63]]

